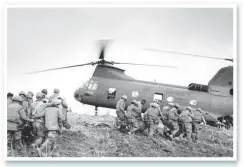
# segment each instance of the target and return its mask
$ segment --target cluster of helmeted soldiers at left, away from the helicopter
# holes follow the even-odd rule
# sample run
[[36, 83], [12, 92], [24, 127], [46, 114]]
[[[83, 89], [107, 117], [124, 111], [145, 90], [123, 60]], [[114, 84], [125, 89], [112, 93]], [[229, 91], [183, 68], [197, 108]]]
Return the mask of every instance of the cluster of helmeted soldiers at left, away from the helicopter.
[[7, 94], [7, 137], [12, 152], [24, 151], [25, 145], [36, 149], [39, 156], [52, 152], [62, 128], [70, 128], [68, 104], [59, 92], [55, 88], [51, 96], [47, 89], [36, 95], [31, 91]]

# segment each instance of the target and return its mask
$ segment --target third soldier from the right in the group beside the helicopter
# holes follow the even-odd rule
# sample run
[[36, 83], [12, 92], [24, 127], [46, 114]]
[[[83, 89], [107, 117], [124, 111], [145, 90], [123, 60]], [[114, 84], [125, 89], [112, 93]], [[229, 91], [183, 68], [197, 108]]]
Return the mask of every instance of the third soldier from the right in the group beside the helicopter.
[[178, 124], [178, 120], [180, 118], [180, 115], [178, 114], [178, 110], [175, 107], [175, 105], [171, 106], [171, 109], [168, 111], [167, 114], [167, 124], [166, 126], [169, 127], [169, 129], [171, 130], [171, 136], [170, 138], [174, 138], [176, 137], [176, 133], [179, 131], [179, 124]]

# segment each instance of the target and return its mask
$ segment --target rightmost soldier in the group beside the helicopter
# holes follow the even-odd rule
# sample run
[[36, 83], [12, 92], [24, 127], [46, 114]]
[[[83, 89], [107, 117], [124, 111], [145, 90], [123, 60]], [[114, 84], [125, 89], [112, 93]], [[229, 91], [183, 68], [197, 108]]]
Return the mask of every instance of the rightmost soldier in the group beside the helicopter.
[[194, 117], [192, 119], [192, 140], [196, 142], [199, 135], [200, 124], [203, 122], [204, 125], [206, 125], [206, 121], [202, 115], [201, 108], [197, 108], [196, 110], [193, 110], [193, 114]]

